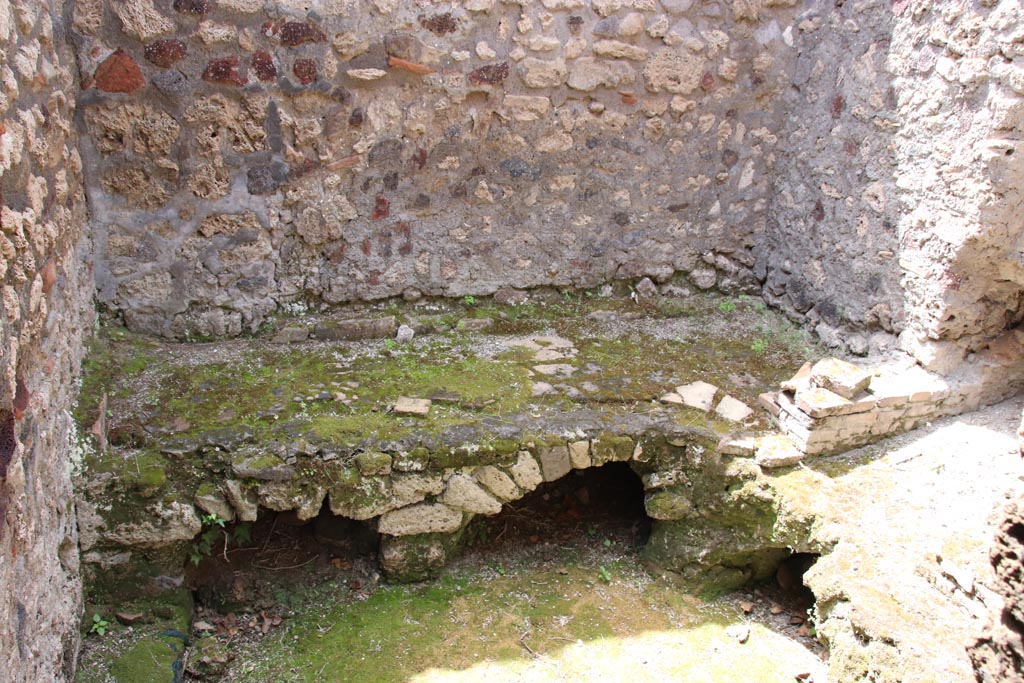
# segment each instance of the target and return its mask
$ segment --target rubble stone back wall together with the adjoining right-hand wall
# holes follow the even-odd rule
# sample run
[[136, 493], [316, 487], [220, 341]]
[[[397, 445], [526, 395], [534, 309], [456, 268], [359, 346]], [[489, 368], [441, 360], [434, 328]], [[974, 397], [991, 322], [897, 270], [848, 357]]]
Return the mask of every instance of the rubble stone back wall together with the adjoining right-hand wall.
[[98, 296], [672, 279], [949, 372], [1019, 323], [1016, 2], [74, 3]]

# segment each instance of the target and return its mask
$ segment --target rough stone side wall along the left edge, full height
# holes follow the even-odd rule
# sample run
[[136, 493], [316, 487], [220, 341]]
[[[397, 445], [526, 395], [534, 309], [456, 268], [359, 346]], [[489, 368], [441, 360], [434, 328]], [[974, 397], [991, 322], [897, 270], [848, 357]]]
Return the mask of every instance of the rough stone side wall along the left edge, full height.
[[0, 671], [14, 682], [70, 680], [81, 611], [69, 408], [92, 272], [60, 9], [0, 1]]

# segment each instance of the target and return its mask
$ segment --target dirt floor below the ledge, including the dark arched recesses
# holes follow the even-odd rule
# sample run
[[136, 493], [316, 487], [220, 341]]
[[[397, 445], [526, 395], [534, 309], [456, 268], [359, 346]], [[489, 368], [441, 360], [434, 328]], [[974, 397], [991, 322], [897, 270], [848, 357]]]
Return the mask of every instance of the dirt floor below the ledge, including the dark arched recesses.
[[641, 566], [648, 522], [625, 465], [552, 482], [483, 520], [429, 584], [382, 585], [365, 549], [328, 548], [316, 522], [280, 517], [255, 529], [258, 541], [273, 527], [262, 546], [194, 572], [208, 602], [196, 635], [209, 629], [229, 660], [186, 680], [824, 680], [799, 591], [701, 599]]

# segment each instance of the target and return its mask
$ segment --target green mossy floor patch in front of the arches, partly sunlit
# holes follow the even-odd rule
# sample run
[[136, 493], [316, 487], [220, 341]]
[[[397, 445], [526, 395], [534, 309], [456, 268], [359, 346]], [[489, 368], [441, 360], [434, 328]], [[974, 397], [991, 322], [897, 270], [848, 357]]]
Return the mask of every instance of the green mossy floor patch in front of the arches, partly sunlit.
[[[365, 601], [303, 600], [304, 611], [238, 658], [231, 680], [767, 683], [822, 671], [799, 642], [751, 623], [735, 598], [696, 599], [614, 549], [557, 554], [472, 558]], [[744, 625], [742, 643], [727, 633]]]

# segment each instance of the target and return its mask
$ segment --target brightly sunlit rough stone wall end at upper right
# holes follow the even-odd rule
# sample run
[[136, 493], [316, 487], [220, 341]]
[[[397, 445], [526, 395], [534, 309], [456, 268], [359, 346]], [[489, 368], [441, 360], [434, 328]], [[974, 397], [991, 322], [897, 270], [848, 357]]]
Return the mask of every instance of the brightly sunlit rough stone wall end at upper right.
[[1000, 365], [1021, 355], [1016, 336], [1004, 333], [1024, 315], [1024, 71], [1019, 56], [1014, 63], [1024, 10], [982, 4], [992, 6], [907, 5], [891, 59], [902, 124], [900, 342], [944, 374], [986, 349], [981, 359]]

